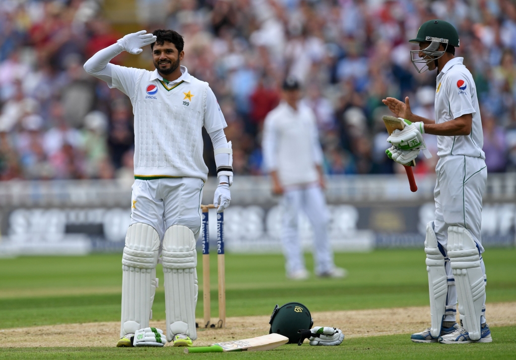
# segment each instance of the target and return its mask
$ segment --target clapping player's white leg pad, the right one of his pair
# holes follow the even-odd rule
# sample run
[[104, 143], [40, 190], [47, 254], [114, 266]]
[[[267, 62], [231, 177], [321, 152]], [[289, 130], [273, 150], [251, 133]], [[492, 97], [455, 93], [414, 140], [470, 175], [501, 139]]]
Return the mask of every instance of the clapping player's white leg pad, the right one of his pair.
[[470, 339], [479, 340], [486, 284], [475, 241], [464, 227], [448, 227], [448, 256], [455, 277], [462, 326]]

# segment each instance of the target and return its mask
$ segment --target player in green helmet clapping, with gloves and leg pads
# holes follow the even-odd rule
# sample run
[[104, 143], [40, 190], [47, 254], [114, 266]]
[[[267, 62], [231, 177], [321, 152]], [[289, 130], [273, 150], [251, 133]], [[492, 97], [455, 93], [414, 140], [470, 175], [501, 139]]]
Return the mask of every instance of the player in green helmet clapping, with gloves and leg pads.
[[[408, 120], [409, 126], [398, 133], [397, 139], [410, 144], [412, 137], [402, 133], [411, 132], [413, 138], [424, 133], [437, 135], [439, 156], [434, 190], [436, 219], [428, 223], [425, 240], [431, 327], [413, 334], [411, 339], [491, 342], [485, 317], [486, 268], [480, 237], [487, 168], [475, 82], [462, 64], [463, 58], [455, 57], [460, 43], [453, 25], [442, 20], [427, 21], [410, 42], [420, 47], [411, 51], [417, 71], [437, 69], [436, 120], [414, 115], [408, 97], [405, 103], [392, 97], [383, 103], [397, 117]], [[389, 139], [394, 145], [389, 150], [397, 155], [392, 157], [396, 161], [407, 163], [418, 155], [419, 150], [401, 150], [392, 136]], [[457, 298], [460, 326], [455, 320]]]

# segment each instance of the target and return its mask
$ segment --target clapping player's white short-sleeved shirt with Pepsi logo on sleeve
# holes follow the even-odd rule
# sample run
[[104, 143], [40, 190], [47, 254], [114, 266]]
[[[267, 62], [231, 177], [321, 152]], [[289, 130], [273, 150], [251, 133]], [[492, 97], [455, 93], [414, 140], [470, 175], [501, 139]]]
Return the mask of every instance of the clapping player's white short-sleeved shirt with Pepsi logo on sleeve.
[[437, 136], [439, 157], [465, 155], [486, 159], [482, 151], [483, 134], [480, 110], [478, 108], [475, 81], [462, 64], [463, 58], [449, 60], [437, 76], [436, 124], [472, 114], [471, 134], [464, 136]]

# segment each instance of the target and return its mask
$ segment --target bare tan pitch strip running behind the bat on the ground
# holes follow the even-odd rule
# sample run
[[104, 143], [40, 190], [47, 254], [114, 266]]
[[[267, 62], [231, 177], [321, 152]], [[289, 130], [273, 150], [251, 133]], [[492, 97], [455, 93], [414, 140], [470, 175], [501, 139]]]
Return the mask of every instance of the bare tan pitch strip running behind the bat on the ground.
[[[365, 337], [422, 331], [430, 324], [429, 314], [429, 307], [420, 306], [318, 312], [312, 316], [316, 326], [340, 328], [346, 337]], [[486, 317], [492, 327], [516, 325], [516, 302], [488, 303]], [[214, 342], [265, 335], [269, 332], [268, 322], [268, 316], [230, 317], [225, 329], [198, 329], [198, 339], [194, 344], [207, 346]], [[164, 321], [151, 321], [151, 326], [166, 327]], [[4, 329], [0, 330], [0, 347], [114, 347], [119, 331], [119, 322]], [[28, 338], [30, 341], [26, 341]]]

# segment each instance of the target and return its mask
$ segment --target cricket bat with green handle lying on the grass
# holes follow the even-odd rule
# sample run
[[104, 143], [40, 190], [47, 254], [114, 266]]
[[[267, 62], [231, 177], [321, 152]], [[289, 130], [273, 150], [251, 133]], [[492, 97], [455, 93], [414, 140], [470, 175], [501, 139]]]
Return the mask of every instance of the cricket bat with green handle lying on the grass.
[[263, 351], [275, 349], [288, 342], [288, 337], [280, 334], [269, 334], [252, 339], [233, 340], [214, 343], [212, 346], [185, 348], [185, 353], [196, 352], [228, 352], [228, 351]]

